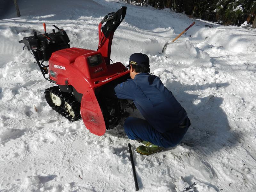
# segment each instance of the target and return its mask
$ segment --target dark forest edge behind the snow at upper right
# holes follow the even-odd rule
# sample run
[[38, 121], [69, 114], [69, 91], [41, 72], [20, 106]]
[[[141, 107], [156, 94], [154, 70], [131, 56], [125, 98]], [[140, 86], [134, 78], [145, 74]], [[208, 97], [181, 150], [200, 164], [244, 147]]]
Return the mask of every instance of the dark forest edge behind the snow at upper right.
[[184, 12], [192, 18], [256, 28], [256, 1], [253, 0], [123, 0], [129, 4]]

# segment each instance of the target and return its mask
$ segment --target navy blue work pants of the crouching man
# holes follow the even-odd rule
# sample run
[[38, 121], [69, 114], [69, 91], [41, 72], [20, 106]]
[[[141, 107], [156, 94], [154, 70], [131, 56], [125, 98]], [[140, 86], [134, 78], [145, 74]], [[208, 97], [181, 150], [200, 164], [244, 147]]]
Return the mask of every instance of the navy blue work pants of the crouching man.
[[190, 126], [187, 118], [185, 126], [172, 129], [165, 133], [156, 131], [146, 120], [128, 117], [124, 122], [124, 131], [129, 139], [149, 141], [155, 145], [168, 148], [177, 145]]

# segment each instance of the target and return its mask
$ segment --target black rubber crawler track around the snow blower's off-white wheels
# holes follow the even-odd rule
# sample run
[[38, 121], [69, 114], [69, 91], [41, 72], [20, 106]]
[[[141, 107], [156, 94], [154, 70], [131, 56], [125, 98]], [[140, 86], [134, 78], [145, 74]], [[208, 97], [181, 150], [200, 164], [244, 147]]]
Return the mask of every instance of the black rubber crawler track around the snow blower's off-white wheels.
[[[54, 95], [57, 95], [61, 99], [61, 105], [56, 106], [50, 97], [50, 92], [53, 93]], [[76, 121], [81, 118], [80, 115], [80, 103], [75, 99], [75, 96], [72, 93], [67, 93], [67, 92], [61, 92], [59, 89], [59, 86], [53, 86], [48, 89], [45, 89], [44, 92], [45, 99], [47, 103], [50, 105], [50, 107], [57, 111], [60, 115], [63, 117], [67, 118], [69, 121]], [[72, 118], [72, 116], [68, 116], [69, 113], [66, 111], [65, 102], [67, 102], [73, 109], [75, 113], [75, 117]]]

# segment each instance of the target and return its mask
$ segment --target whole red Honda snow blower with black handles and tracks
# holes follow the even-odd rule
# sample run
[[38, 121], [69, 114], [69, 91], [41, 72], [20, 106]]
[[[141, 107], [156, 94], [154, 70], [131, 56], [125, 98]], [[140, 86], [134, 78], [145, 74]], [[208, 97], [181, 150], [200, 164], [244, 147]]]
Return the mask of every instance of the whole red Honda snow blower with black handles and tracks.
[[[52, 29], [53, 33], [46, 33], [44, 24], [44, 34], [34, 32], [34, 36], [19, 41], [32, 51], [44, 78], [57, 84], [45, 90], [47, 103], [70, 121], [82, 117], [86, 128], [96, 135], [103, 135], [106, 129], [117, 125], [131, 106], [127, 100], [118, 100], [106, 93], [108, 87], [130, 78], [122, 63], [110, 64], [114, 32], [125, 13], [126, 7], [121, 7], [100, 22], [97, 51], [70, 48], [67, 33], [55, 25], [57, 31]], [[49, 65], [44, 65], [48, 60]]]

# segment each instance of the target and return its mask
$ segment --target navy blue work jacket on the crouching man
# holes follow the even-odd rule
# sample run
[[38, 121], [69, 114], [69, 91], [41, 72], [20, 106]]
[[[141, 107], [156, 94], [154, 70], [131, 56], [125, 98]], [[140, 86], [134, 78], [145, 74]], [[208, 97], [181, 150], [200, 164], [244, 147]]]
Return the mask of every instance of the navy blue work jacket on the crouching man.
[[160, 133], [177, 128], [187, 117], [185, 109], [155, 75], [139, 73], [118, 84], [115, 92], [119, 99], [133, 100], [142, 116]]

